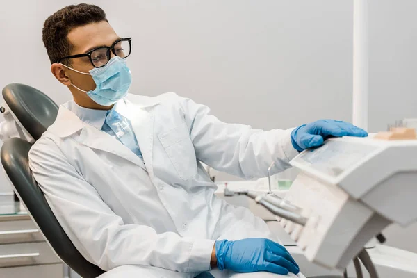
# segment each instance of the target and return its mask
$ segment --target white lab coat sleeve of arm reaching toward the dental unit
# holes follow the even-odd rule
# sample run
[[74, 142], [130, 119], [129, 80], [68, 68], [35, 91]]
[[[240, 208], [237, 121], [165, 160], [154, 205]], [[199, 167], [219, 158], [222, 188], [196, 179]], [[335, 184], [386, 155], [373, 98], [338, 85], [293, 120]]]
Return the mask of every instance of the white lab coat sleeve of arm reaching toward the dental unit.
[[210, 114], [207, 106], [179, 97], [190, 129], [197, 159], [215, 170], [244, 179], [268, 176], [288, 167], [297, 154], [291, 144], [293, 129], [263, 131], [243, 124], [227, 124]]

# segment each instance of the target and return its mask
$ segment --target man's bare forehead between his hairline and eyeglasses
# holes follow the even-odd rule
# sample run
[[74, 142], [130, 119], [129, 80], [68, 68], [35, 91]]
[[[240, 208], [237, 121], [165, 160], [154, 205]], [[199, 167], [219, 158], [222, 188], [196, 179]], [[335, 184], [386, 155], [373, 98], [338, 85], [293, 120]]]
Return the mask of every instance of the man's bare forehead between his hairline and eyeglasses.
[[73, 46], [71, 55], [85, 53], [88, 49], [108, 47], [119, 38], [108, 22], [95, 22], [73, 28], [68, 33], [68, 40]]

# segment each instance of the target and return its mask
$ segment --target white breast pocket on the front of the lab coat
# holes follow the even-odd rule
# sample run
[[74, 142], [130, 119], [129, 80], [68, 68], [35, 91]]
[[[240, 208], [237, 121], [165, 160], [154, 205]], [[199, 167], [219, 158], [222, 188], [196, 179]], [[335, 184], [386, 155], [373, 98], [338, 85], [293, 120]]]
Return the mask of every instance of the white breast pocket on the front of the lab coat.
[[186, 122], [158, 135], [167, 156], [181, 179], [186, 181], [197, 174], [197, 158]]

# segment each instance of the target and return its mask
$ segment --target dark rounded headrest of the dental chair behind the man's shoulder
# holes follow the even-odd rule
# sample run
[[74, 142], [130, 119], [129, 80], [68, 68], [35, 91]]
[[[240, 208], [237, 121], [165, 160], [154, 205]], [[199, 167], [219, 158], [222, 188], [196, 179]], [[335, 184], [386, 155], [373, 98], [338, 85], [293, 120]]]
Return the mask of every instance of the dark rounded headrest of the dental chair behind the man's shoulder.
[[35, 140], [56, 120], [56, 103], [31, 86], [11, 83], [3, 88], [3, 99]]

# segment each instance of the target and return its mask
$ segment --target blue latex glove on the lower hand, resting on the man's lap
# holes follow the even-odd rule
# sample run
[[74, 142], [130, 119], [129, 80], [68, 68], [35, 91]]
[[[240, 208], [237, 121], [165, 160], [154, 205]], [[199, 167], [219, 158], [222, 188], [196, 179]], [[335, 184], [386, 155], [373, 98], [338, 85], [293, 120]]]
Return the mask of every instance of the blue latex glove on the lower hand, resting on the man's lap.
[[287, 275], [300, 268], [284, 246], [266, 238], [220, 240], [215, 242], [215, 256], [220, 270], [236, 272], [268, 271]]

